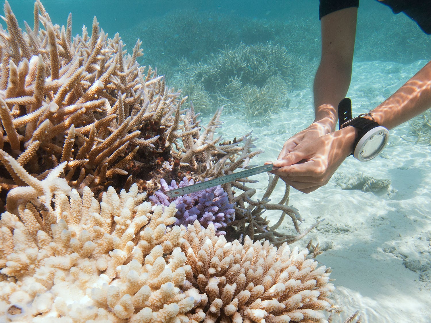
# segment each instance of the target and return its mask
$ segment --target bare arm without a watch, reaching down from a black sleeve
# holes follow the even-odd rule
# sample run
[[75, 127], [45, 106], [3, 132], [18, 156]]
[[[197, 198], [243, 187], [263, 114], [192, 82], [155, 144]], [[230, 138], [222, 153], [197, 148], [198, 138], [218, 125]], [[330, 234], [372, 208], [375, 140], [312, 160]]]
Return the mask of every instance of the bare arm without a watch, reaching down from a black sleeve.
[[350, 85], [356, 16], [357, 8], [350, 7], [322, 17], [322, 56], [313, 85], [315, 118], [309, 127], [284, 143], [279, 157], [335, 130], [335, 107]]

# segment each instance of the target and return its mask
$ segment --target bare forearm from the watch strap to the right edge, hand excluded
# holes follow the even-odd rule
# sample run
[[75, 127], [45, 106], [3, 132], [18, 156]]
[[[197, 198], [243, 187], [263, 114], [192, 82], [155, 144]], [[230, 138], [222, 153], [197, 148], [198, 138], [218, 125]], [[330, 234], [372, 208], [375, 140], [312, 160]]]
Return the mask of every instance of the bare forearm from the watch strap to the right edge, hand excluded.
[[378, 124], [392, 129], [431, 107], [431, 62], [373, 109]]

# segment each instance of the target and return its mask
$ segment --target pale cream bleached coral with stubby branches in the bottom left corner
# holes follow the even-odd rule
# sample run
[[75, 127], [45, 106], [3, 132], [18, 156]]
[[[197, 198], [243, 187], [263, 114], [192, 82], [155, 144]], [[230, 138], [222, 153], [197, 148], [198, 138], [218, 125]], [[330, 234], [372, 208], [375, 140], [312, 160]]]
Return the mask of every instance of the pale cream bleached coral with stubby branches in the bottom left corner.
[[181, 230], [166, 227], [175, 206], [152, 211], [145, 196], [136, 184], [120, 194], [110, 187], [98, 203], [86, 187], [82, 198], [56, 195], [53, 211], [27, 203], [19, 216], [3, 213], [0, 317], [173, 322], [190, 311], [198, 293], [180, 292]]

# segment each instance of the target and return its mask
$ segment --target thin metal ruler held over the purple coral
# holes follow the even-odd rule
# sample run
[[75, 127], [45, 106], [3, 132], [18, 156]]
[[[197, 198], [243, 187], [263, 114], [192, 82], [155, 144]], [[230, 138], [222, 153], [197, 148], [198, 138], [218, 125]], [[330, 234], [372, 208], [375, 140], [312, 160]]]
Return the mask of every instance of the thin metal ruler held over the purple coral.
[[228, 174], [225, 176], [217, 177], [212, 180], [206, 180], [204, 182], [196, 183], [189, 186], [179, 187], [178, 189], [172, 189], [170, 191], [164, 192], [170, 198], [181, 196], [184, 194], [194, 193], [200, 191], [202, 189], [207, 189], [210, 187], [214, 187], [217, 185], [223, 185], [229, 182], [233, 182], [234, 180], [239, 180], [240, 178], [249, 177], [256, 174], [265, 173], [267, 171], [272, 171], [277, 169], [278, 167], [272, 166], [272, 164], [258, 166], [250, 169], [246, 169], [244, 171], [238, 171], [237, 173]]

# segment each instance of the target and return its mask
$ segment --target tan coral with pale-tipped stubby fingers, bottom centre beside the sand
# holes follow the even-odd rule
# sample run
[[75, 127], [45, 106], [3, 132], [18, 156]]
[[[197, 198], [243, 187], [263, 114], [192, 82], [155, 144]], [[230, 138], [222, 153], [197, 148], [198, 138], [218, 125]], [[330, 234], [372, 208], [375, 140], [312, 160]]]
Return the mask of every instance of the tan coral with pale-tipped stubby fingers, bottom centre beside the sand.
[[334, 290], [325, 266], [307, 258], [308, 250], [290, 250], [245, 237], [226, 242], [213, 226], [189, 226], [181, 245], [190, 270], [186, 278], [207, 301], [205, 322], [325, 322]]

